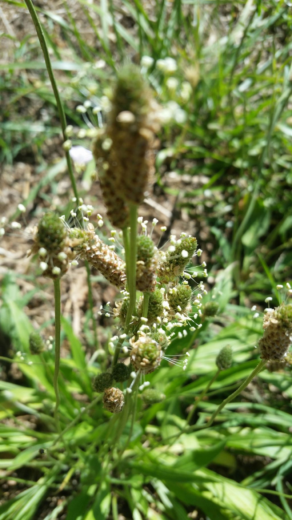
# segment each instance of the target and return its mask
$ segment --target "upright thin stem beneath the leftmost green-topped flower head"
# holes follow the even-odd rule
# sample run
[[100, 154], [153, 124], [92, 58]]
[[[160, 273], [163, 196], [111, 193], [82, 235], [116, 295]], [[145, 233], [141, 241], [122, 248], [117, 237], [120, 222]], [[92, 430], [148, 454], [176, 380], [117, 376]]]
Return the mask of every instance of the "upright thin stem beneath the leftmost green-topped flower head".
[[56, 405], [54, 411], [54, 418], [57, 425], [57, 430], [60, 433], [61, 427], [59, 423], [58, 417], [58, 408], [60, 405], [60, 392], [59, 392], [59, 370], [60, 370], [60, 347], [61, 347], [61, 289], [60, 289], [60, 279], [57, 278], [54, 280], [54, 296], [55, 296], [55, 371], [54, 371], [54, 379], [53, 386], [56, 395]]

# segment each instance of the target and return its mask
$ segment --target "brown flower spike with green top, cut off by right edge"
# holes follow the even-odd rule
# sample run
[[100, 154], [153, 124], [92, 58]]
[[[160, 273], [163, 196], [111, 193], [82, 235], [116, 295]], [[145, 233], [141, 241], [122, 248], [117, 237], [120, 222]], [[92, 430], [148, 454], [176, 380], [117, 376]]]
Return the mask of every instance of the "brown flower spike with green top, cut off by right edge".
[[263, 336], [259, 340], [261, 359], [281, 360], [292, 341], [292, 304], [268, 311], [263, 318]]

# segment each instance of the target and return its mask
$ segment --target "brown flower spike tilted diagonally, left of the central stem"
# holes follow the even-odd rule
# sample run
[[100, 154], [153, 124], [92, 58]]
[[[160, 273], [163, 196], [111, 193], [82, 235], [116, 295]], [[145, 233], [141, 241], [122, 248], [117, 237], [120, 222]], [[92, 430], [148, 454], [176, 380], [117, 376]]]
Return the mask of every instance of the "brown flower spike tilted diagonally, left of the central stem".
[[125, 263], [95, 233], [94, 226], [87, 229], [72, 228], [69, 231], [72, 250], [87, 260], [115, 287], [124, 287], [126, 282]]

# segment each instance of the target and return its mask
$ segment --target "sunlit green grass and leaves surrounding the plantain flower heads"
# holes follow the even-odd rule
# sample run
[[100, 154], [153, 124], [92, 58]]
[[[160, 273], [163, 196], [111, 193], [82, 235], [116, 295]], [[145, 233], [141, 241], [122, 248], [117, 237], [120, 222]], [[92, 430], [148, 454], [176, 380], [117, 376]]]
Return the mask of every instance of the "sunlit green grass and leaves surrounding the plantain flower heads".
[[[5, 4], [19, 13], [26, 9], [20, 2]], [[211, 520], [292, 518], [288, 368], [261, 372], [256, 383], [222, 410], [213, 427], [184, 433], [173, 445], [168, 440], [184, 427], [186, 409], [214, 375], [223, 346], [232, 346], [233, 365], [200, 402], [198, 424], [255, 368], [262, 322], [251, 319], [249, 307], [264, 306], [270, 294], [277, 305], [276, 284], [291, 279], [291, 7], [282, 0], [77, 4], [96, 34], [94, 46], [78, 28], [76, 4], [72, 8], [63, 2], [63, 16], [37, 7], [69, 123], [87, 128], [76, 105], [90, 98], [89, 85], [94, 99], [107, 93], [116, 68], [129, 58], [139, 62], [143, 55], [154, 60], [172, 56], [179, 85], [192, 78], [192, 94], [183, 103], [178, 92], [167, 88], [165, 75], [154, 66], [149, 70], [162, 104], [176, 100], [187, 112], [184, 123], [166, 124], [159, 136], [157, 186], [180, 194], [178, 205], [195, 220], [200, 246], [212, 246], [208, 271], [215, 283], [208, 298], [216, 296], [220, 315], [215, 323], [205, 321], [200, 334], [189, 331], [171, 344], [169, 354], [190, 350], [187, 371], [164, 361], [150, 374], [151, 385], [166, 399], [148, 408], [139, 399], [134, 430], [128, 439], [127, 425], [115, 448], [108, 440], [115, 417], [92, 396], [91, 380], [104, 360], [88, 361], [63, 318], [62, 337], [67, 337], [70, 352], [61, 359], [62, 439], [52, 419], [54, 353], [36, 357], [28, 348], [32, 325], [23, 308], [39, 291], [38, 283], [27, 275], [35, 289], [23, 296], [18, 274], [7, 272], [0, 329], [23, 377], [20, 384], [0, 381], [0, 478], [24, 487], [9, 500], [0, 495], [0, 520], [117, 520], [118, 514], [134, 520], [184, 520], [192, 512]], [[42, 190], [50, 185], [51, 195], [56, 193], [64, 168], [63, 159], [51, 164], [49, 155], [43, 155], [47, 140], [60, 134], [56, 101], [33, 28], [19, 42], [11, 34], [2, 34], [3, 42], [5, 38], [15, 45], [13, 59], [0, 64], [5, 101], [0, 108], [0, 157], [7, 163], [30, 157], [41, 180], [24, 204], [39, 198], [47, 204], [50, 196]], [[96, 64], [101, 59], [104, 68]], [[46, 109], [45, 121], [38, 110], [25, 110], [34, 104]], [[93, 115], [92, 123], [97, 124]], [[88, 134], [74, 144], [90, 147]], [[88, 183], [92, 170], [89, 164], [80, 174]], [[165, 171], [200, 175], [206, 181], [176, 191], [165, 183]], [[58, 210], [63, 214], [68, 209]], [[89, 320], [87, 329], [90, 345]], [[18, 350], [23, 360], [16, 357]], [[85, 396], [85, 407], [80, 396]], [[35, 418], [36, 430], [24, 425], [25, 414]], [[119, 458], [127, 439], [128, 448]], [[47, 450], [43, 458], [40, 448]], [[46, 510], [46, 497], [54, 493], [62, 498]]]

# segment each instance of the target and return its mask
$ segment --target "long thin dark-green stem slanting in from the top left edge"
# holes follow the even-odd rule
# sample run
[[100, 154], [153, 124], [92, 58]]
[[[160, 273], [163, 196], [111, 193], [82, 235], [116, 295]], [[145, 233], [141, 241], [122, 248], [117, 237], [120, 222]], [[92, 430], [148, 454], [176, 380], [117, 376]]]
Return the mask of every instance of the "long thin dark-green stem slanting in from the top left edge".
[[[44, 35], [44, 32], [43, 32], [42, 24], [39, 21], [39, 18], [38, 18], [37, 14], [36, 14], [36, 10], [34, 8], [32, 0], [25, 0], [25, 4], [28, 7], [28, 10], [29, 10], [30, 15], [32, 17], [32, 21], [33, 21], [34, 27], [36, 29], [38, 40], [39, 40], [39, 43], [41, 44], [42, 51], [44, 53], [46, 68], [47, 68], [47, 71], [48, 71], [48, 75], [49, 75], [51, 86], [52, 86], [52, 89], [53, 89], [53, 92], [54, 92], [54, 96], [56, 98], [56, 103], [57, 103], [57, 108], [58, 108], [58, 112], [59, 112], [59, 118], [60, 118], [62, 133], [63, 133], [63, 138], [64, 138], [64, 141], [66, 141], [68, 139], [68, 136], [67, 136], [67, 132], [66, 132], [67, 121], [66, 121], [65, 111], [64, 111], [63, 104], [62, 104], [62, 101], [61, 101], [61, 97], [60, 97], [60, 94], [59, 94], [59, 90], [58, 90], [58, 87], [57, 87], [55, 74], [54, 74], [54, 71], [52, 70], [49, 50], [48, 50], [48, 47], [47, 47], [47, 44], [46, 44], [46, 39], [45, 39], [45, 35]], [[71, 157], [70, 157], [69, 151], [66, 151], [65, 155], [66, 155], [67, 166], [68, 166], [68, 173], [69, 173], [69, 176], [70, 176], [70, 180], [71, 180], [71, 185], [72, 185], [72, 189], [73, 189], [73, 192], [74, 192], [74, 196], [76, 197], [76, 199], [78, 199], [78, 192], [77, 192], [77, 187], [76, 187], [76, 182], [75, 182], [74, 173], [73, 173], [73, 167], [72, 167], [72, 161], [71, 161]]]

